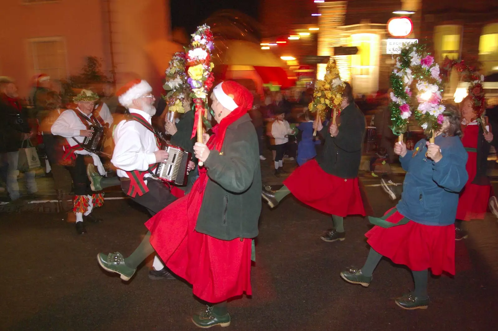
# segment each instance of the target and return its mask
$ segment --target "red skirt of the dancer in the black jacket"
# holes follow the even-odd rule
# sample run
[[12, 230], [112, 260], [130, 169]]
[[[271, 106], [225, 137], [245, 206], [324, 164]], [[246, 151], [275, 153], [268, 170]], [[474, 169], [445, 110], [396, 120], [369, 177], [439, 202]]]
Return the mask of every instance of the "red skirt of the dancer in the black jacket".
[[283, 184], [299, 201], [321, 212], [341, 217], [365, 216], [358, 177], [330, 175], [316, 160], [296, 168]]

